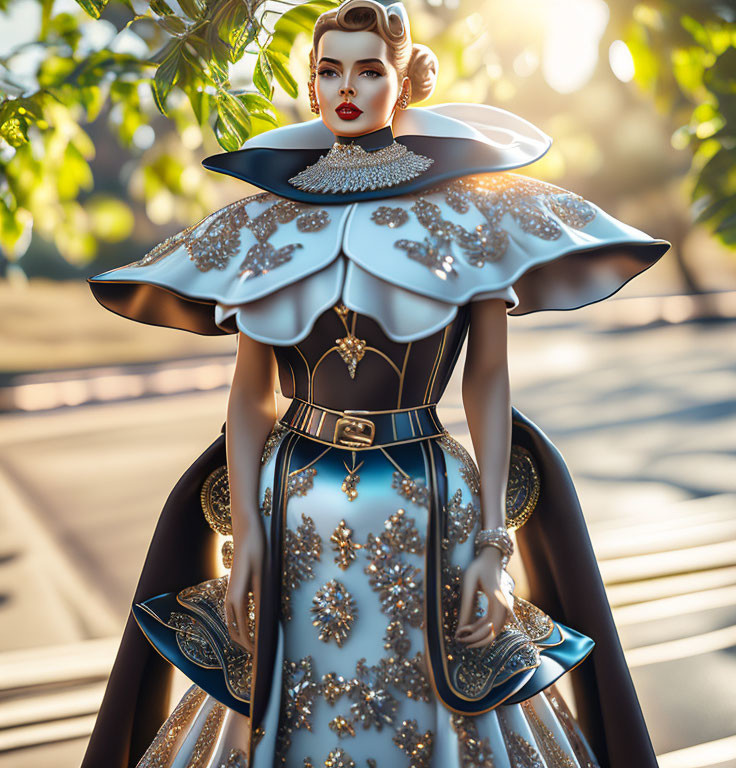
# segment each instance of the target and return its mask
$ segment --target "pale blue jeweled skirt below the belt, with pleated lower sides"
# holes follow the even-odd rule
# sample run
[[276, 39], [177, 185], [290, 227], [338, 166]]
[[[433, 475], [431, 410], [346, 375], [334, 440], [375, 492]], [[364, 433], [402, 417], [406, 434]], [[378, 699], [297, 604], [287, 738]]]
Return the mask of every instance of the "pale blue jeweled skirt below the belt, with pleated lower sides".
[[[250, 768], [597, 768], [554, 686], [477, 716], [438, 698], [425, 633], [426, 451], [417, 443], [351, 451], [294, 437], [283, 465], [273, 679]], [[269, 546], [283, 438], [269, 440], [260, 475]], [[441, 589], [452, 652], [462, 572], [482, 526], [479, 479], [458, 443], [437, 443], [447, 476]], [[192, 686], [139, 768], [241, 768], [249, 737], [248, 717]]]

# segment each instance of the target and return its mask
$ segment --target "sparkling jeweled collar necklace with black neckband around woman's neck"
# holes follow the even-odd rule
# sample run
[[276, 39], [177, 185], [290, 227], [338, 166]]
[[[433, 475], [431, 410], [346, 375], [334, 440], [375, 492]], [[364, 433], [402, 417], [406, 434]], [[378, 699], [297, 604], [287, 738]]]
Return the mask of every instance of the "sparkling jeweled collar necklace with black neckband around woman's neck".
[[395, 141], [390, 125], [335, 138], [329, 152], [292, 176], [289, 184], [323, 194], [385, 189], [420, 176], [434, 162]]

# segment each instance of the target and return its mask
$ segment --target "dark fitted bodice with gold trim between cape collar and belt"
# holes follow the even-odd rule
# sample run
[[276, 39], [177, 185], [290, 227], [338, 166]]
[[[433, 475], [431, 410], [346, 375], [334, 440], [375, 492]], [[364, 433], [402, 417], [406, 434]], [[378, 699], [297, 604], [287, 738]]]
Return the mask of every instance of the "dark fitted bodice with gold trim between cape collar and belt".
[[397, 342], [367, 315], [338, 304], [320, 315], [309, 335], [275, 346], [281, 391], [335, 410], [389, 410], [436, 403], [468, 330], [469, 308], [441, 330]]

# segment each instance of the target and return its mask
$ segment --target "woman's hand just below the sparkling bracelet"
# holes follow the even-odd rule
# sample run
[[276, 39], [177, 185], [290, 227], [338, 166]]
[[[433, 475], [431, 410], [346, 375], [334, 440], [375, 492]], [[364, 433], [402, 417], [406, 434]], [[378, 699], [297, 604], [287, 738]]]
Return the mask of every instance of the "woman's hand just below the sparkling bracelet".
[[[460, 616], [455, 639], [468, 648], [490, 645], [506, 623], [509, 608], [501, 591], [501, 551], [497, 547], [484, 547], [463, 574]], [[488, 612], [473, 621], [476, 592], [488, 598]]]

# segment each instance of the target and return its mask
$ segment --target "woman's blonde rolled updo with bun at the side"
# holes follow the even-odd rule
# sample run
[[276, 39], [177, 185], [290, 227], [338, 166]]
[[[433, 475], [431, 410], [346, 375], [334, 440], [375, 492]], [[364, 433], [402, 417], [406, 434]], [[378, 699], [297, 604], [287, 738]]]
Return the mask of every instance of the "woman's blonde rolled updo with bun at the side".
[[312, 37], [309, 63], [312, 72], [317, 65], [319, 41], [325, 32], [375, 32], [386, 41], [391, 64], [411, 84], [410, 102], [429, 98], [437, 82], [437, 57], [426, 45], [412, 43], [409, 23], [403, 5], [383, 6], [375, 0], [347, 0], [339, 8], [326, 11], [317, 18]]

